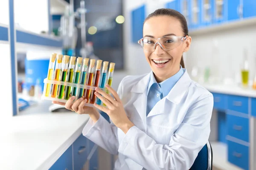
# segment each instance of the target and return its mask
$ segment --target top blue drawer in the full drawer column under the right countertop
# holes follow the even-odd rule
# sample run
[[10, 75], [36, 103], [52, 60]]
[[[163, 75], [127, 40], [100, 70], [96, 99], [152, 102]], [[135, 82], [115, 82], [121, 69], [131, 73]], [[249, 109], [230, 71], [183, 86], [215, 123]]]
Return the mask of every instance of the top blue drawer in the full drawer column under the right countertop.
[[227, 109], [248, 114], [248, 97], [228, 96]]

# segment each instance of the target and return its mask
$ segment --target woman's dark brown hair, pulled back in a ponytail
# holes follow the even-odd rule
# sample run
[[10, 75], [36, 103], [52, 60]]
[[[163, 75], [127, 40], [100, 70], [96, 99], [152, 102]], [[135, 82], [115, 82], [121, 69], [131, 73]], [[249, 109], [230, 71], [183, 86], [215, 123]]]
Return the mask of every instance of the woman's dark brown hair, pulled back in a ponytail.
[[[189, 29], [186, 22], [186, 18], [182, 14], [180, 14], [180, 12], [175, 11], [174, 9], [169, 9], [169, 8], [157, 9], [153, 13], [149, 14], [148, 17], [146, 17], [146, 19], [144, 20], [144, 23], [151, 17], [163, 16], [163, 15], [175, 17], [177, 20], [179, 20], [182, 31], [183, 31], [183, 37], [185, 37], [186, 35], [189, 35]], [[144, 26], [144, 23], [143, 23], [143, 26]], [[183, 68], [185, 68], [183, 56], [181, 57], [180, 65]]]

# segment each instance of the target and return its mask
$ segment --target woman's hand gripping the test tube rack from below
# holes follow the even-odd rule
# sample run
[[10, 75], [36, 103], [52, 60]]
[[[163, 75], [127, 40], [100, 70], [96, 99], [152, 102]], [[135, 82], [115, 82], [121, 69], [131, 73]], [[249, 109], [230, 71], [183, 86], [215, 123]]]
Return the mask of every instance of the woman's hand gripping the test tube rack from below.
[[73, 103], [75, 98], [75, 96], [70, 97], [70, 99], [68, 99], [66, 103], [57, 101], [52, 101], [52, 103], [63, 105], [66, 109], [70, 111], [75, 111], [78, 114], [89, 114], [93, 122], [97, 122], [97, 120], [99, 119], [99, 112], [96, 110], [96, 108], [84, 106], [87, 102], [87, 99], [83, 99], [82, 97]]

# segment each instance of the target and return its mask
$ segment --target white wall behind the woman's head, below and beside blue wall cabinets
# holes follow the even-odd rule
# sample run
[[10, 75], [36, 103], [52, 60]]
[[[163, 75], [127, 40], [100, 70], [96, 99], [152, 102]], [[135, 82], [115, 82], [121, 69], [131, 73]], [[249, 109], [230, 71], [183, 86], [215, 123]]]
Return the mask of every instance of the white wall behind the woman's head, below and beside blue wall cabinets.
[[[150, 71], [148, 63], [139, 45], [131, 42], [131, 10], [146, 4], [146, 16], [157, 8], [164, 8], [171, 0], [125, 0], [124, 9], [124, 52], [125, 68], [128, 74], [144, 74]], [[192, 35], [190, 50], [184, 54], [186, 68], [189, 74], [192, 67], [196, 66], [199, 74], [203, 74], [204, 68], [209, 65], [214, 77], [235, 78], [240, 76], [243, 47], [248, 50], [250, 73], [256, 72], [256, 24], [228, 31], [218, 31], [204, 35]], [[215, 47], [214, 47], [215, 44]], [[218, 48], [219, 51], [215, 50]], [[212, 52], [213, 51], [213, 52]], [[254, 74], [250, 74], [252, 80]]]

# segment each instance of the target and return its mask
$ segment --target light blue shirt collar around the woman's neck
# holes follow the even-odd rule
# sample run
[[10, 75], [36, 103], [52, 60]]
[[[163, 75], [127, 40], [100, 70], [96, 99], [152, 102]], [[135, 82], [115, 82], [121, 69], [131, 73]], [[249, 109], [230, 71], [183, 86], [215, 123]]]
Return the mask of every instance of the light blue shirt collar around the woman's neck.
[[[184, 69], [185, 70], [185, 69]], [[172, 88], [174, 87], [174, 85], [177, 83], [177, 81], [180, 79], [180, 77], [183, 75], [184, 73], [183, 68], [180, 66], [180, 70], [173, 75], [172, 77], [169, 77], [168, 79], [164, 80], [163, 82], [158, 83], [158, 85], [160, 85], [162, 91], [163, 91], [163, 97], [167, 96], [167, 94], [169, 94], [169, 92], [172, 90]], [[150, 73], [150, 78], [149, 78], [149, 82], [148, 82], [148, 91], [147, 94], [151, 88], [151, 86], [157, 83], [155, 77], [154, 77], [154, 73], [153, 71], [151, 71]]]

